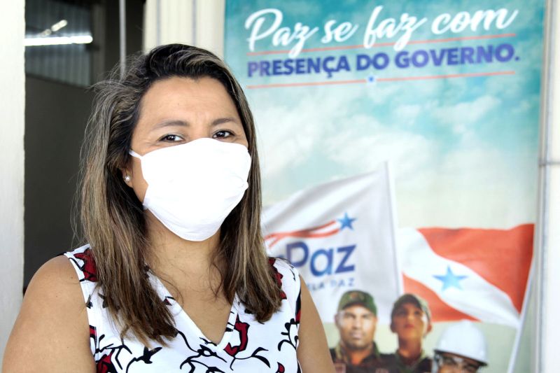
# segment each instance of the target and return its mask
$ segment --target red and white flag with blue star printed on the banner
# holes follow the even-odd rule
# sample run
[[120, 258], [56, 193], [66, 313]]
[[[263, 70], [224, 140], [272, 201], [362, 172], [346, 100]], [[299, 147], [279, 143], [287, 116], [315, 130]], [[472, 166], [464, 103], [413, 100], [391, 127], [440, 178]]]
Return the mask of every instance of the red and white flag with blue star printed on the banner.
[[406, 293], [428, 301], [433, 321], [519, 327], [533, 258], [533, 224], [509, 230], [398, 231]]

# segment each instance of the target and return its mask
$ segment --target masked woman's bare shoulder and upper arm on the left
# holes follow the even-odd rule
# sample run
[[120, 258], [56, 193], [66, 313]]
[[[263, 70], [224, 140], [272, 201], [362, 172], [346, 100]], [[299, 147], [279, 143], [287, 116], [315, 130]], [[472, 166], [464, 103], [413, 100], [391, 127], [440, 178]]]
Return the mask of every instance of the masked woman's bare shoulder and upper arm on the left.
[[[6, 372], [89, 371], [92, 354], [80, 280], [60, 255], [38, 269], [29, 282], [5, 351]], [[50, 370], [50, 369], [49, 369]]]

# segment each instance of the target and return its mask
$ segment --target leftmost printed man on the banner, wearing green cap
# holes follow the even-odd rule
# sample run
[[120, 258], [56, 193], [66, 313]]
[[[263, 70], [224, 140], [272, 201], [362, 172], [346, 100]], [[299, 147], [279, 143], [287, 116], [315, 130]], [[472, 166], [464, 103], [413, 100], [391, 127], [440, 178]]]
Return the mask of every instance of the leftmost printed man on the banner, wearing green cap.
[[338, 303], [335, 325], [340, 340], [330, 349], [337, 373], [388, 373], [373, 342], [377, 326], [377, 307], [372, 295], [350, 290]]

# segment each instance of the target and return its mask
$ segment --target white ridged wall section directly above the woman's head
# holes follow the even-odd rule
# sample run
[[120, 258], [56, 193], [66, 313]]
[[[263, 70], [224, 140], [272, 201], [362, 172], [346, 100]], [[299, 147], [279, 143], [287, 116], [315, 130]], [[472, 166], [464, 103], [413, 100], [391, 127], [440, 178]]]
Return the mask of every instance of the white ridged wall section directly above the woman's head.
[[224, 13], [225, 0], [147, 0], [144, 50], [156, 45], [183, 43], [223, 57]]

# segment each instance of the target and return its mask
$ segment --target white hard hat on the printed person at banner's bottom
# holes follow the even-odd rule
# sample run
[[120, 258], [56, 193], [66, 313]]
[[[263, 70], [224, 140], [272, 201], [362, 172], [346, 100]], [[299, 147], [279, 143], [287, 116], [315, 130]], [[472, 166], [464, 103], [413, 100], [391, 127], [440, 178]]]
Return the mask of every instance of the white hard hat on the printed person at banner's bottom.
[[434, 351], [454, 353], [488, 365], [486, 338], [470, 321], [463, 320], [444, 330]]

